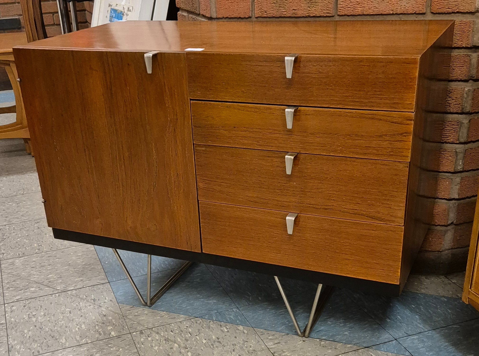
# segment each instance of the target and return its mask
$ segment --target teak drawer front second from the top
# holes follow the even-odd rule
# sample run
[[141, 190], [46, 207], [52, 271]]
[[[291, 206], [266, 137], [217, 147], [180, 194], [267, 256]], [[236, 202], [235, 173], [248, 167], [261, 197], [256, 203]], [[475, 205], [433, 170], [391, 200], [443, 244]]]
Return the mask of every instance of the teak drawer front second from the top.
[[408, 162], [413, 113], [192, 101], [196, 144]]

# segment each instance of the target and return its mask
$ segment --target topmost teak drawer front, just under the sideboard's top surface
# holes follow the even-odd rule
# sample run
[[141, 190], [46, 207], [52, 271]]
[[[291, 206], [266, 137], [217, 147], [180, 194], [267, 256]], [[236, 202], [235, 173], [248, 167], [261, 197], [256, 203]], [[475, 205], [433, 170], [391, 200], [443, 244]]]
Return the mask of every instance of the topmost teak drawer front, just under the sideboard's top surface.
[[[287, 55], [287, 54], [285, 54]], [[414, 111], [418, 57], [285, 56], [188, 52], [190, 98]]]

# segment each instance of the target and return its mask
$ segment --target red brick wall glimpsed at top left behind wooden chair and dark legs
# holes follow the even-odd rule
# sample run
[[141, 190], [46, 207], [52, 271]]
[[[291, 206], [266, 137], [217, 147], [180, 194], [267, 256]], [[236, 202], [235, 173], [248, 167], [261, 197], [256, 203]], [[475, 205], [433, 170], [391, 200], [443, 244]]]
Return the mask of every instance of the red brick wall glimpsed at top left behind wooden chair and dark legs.
[[[89, 3], [90, 1], [77, 3], [77, 15], [80, 29], [87, 28], [90, 26], [89, 22], [87, 22], [88, 14], [86, 10], [89, 6]], [[57, 1], [42, 0], [42, 11], [43, 21], [45, 22], [46, 34], [48, 36], [56, 36], [57, 34], [61, 34]], [[22, 21], [23, 27], [23, 16], [20, 1], [0, 0], [0, 19], [6, 17], [19, 17]]]

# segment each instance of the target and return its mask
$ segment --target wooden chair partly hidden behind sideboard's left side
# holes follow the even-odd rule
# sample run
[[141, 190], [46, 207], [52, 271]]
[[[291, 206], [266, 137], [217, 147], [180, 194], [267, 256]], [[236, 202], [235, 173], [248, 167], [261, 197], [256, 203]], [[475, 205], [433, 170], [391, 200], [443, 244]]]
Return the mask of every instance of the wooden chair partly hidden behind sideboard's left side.
[[18, 82], [17, 68], [12, 54], [12, 47], [23, 45], [46, 38], [45, 23], [43, 22], [41, 0], [20, 0], [23, 13], [25, 32], [22, 33], [0, 33], [0, 66], [5, 67], [15, 95], [16, 105], [8, 108], [0, 108], [0, 113], [16, 112], [15, 122], [0, 126], [0, 139], [2, 138], [23, 138], [25, 148], [33, 155], [33, 148], [30, 142], [30, 133], [23, 110], [22, 92]]

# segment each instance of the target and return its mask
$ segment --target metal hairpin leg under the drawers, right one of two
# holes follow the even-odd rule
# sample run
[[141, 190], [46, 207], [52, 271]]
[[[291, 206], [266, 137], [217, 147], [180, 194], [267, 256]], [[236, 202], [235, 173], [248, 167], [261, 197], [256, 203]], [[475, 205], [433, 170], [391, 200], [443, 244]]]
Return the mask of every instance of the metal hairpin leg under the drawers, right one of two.
[[319, 314], [321, 313], [324, 307], [324, 304], [326, 303], [329, 296], [331, 295], [332, 287], [324, 286], [323, 288], [322, 284], [318, 284], [318, 289], [316, 289], [316, 295], [314, 296], [314, 300], [313, 300], [313, 306], [311, 308], [311, 312], [309, 313], [308, 324], [306, 325], [304, 330], [301, 331], [301, 329], [299, 328], [298, 322], [296, 320], [295, 314], [293, 310], [291, 309], [291, 306], [289, 305], [289, 300], [286, 297], [283, 286], [279, 282], [278, 277], [274, 276], [274, 280], [276, 281], [279, 292], [281, 293], [281, 296], [283, 297], [283, 300], [285, 301], [286, 309], [288, 310], [289, 316], [291, 317], [291, 320], [293, 321], [293, 325], [295, 326], [297, 334], [299, 336], [309, 337], [309, 333], [311, 333], [311, 329], [318, 321]]

